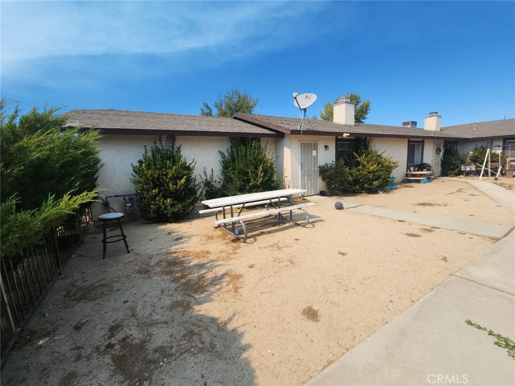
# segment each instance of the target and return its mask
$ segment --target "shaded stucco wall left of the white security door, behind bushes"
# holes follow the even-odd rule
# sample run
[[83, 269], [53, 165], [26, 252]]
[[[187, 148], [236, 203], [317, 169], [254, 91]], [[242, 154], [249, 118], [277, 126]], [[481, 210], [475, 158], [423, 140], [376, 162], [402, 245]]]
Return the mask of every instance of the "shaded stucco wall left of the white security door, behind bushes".
[[[141, 159], [144, 146], [153, 146], [157, 136], [152, 135], [106, 135], [98, 142], [102, 150], [100, 155], [104, 166], [100, 170], [97, 186], [108, 190], [102, 192], [102, 196], [128, 194], [135, 192], [132, 178], [132, 164]], [[262, 143], [267, 144], [271, 156], [276, 159], [275, 138], [262, 138]], [[203, 177], [204, 167], [208, 176], [213, 169], [215, 178], [220, 172], [220, 154], [218, 150], [225, 151], [229, 146], [228, 137], [193, 137], [178, 136], [177, 144], [181, 145], [182, 155], [188, 162], [195, 160], [195, 174], [197, 181], [200, 175]], [[125, 206], [122, 198], [111, 198], [109, 202], [113, 209], [124, 213]], [[93, 216], [96, 218], [105, 213], [105, 206], [100, 203], [93, 205]]]

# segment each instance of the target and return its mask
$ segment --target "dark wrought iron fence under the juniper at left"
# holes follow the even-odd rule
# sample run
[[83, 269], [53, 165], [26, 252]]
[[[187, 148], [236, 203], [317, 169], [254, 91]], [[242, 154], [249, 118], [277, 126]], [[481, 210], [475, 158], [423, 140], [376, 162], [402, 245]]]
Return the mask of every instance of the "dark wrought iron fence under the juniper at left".
[[61, 272], [61, 267], [93, 226], [91, 204], [81, 207], [56, 229], [46, 243], [26, 250], [17, 259], [0, 265], [0, 363], [4, 363], [18, 333]]

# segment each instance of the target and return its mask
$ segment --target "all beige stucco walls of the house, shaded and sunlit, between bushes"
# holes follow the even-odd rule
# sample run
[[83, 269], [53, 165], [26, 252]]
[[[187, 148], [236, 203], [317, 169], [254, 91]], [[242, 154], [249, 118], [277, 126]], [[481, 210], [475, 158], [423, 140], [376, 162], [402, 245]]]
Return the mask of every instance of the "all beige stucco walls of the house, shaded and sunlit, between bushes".
[[[348, 137], [348, 139], [354, 139]], [[107, 190], [102, 196], [117, 194], [130, 194], [135, 192], [132, 179], [131, 164], [136, 164], [141, 159], [144, 146], [151, 147], [158, 136], [153, 135], [105, 135], [98, 143], [104, 166], [100, 170], [97, 185]], [[301, 171], [301, 143], [317, 144], [318, 166], [331, 163], [335, 160], [336, 137], [321, 135], [288, 135], [284, 138], [262, 138], [262, 143], [267, 146], [269, 154], [276, 161], [277, 178], [282, 178], [284, 186], [289, 188], [302, 188]], [[372, 138], [373, 146], [385, 156], [391, 156], [399, 166], [393, 171], [397, 176], [396, 181], [403, 181], [406, 173], [407, 144], [405, 138]], [[435, 143], [440, 145], [442, 141], [426, 139], [424, 141], [423, 162], [436, 165]], [[204, 167], [209, 174], [211, 169], [215, 178], [220, 174], [220, 154], [230, 146], [229, 137], [218, 136], [178, 136], [177, 144], [181, 145], [182, 155], [188, 162], [195, 160], [195, 174], [197, 180], [203, 177]], [[325, 146], [328, 150], [325, 150]], [[473, 147], [473, 146], [472, 146]], [[439, 163], [438, 163], [439, 165]], [[435, 170], [439, 175], [439, 170]], [[327, 186], [318, 177], [317, 192], [327, 190]], [[125, 212], [123, 198], [111, 198], [110, 205], [114, 210]], [[101, 203], [93, 206], [94, 216], [105, 213], [106, 208]]]

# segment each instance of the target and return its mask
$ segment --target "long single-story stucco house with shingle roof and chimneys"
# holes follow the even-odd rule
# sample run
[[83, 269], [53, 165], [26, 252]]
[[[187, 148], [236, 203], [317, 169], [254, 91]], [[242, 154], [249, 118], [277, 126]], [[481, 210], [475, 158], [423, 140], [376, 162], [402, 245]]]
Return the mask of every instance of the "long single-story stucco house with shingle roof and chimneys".
[[[440, 175], [441, 149], [445, 141], [461, 151], [471, 150], [476, 144], [514, 145], [506, 149], [515, 153], [515, 119], [480, 122], [469, 125], [441, 127], [441, 116], [430, 113], [424, 128], [417, 122], [403, 122], [402, 126], [354, 123], [354, 104], [341, 98], [334, 105], [333, 121], [304, 120], [258, 114], [234, 114], [231, 118], [196, 115], [149, 113], [124, 110], [72, 110], [65, 127], [99, 129], [99, 147], [104, 162], [98, 186], [107, 188], [104, 195], [134, 192], [130, 182], [132, 167], [143, 155], [144, 146], [152, 146], [160, 135], [175, 135], [183, 156], [195, 160], [196, 173], [211, 169], [220, 172], [219, 151], [225, 151], [230, 137], [260, 137], [277, 164], [277, 177], [291, 188], [307, 190], [307, 195], [325, 190], [318, 176], [318, 166], [330, 163], [349, 151], [358, 137], [372, 139], [380, 152], [399, 162], [393, 174], [404, 179], [407, 168], [420, 163], [433, 165]], [[500, 148], [501, 149], [501, 148]], [[515, 154], [513, 154], [515, 156]], [[123, 211], [123, 200], [111, 206]], [[97, 205], [94, 214], [105, 209]]]

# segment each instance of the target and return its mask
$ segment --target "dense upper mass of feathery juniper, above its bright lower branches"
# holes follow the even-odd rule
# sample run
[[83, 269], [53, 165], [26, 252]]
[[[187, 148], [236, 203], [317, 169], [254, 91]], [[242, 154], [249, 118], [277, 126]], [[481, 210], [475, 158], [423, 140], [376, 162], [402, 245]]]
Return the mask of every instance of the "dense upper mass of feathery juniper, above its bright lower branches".
[[[67, 120], [59, 108], [40, 112], [36, 107], [18, 120], [15, 107], [5, 112], [0, 101], [1, 200], [16, 196], [16, 207], [37, 209], [52, 195], [62, 199], [68, 192], [81, 194], [96, 188], [101, 168], [95, 146], [98, 131], [61, 131]], [[17, 121], [18, 120], [18, 121]]]

